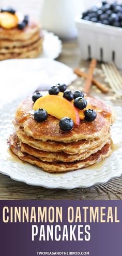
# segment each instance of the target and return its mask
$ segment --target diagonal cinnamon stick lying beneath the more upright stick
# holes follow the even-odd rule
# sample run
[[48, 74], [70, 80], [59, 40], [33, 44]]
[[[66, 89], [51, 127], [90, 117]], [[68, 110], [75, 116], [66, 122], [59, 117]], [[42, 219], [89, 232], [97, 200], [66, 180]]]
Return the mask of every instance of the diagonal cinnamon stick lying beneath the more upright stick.
[[[75, 68], [74, 73], [77, 74], [79, 77], [87, 78], [87, 74], [85, 72], [82, 72], [80, 68]], [[92, 79], [92, 83], [95, 84], [102, 93], [106, 94], [109, 92], [109, 89], [107, 87], [104, 87], [101, 83], [99, 83], [96, 79]]]

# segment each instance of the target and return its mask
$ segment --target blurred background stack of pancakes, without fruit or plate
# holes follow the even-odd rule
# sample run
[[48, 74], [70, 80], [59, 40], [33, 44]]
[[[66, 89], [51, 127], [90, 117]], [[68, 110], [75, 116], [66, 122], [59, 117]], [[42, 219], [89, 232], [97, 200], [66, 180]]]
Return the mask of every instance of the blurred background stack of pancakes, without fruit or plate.
[[29, 21], [24, 29], [0, 27], [0, 61], [11, 58], [35, 58], [42, 51], [40, 26]]

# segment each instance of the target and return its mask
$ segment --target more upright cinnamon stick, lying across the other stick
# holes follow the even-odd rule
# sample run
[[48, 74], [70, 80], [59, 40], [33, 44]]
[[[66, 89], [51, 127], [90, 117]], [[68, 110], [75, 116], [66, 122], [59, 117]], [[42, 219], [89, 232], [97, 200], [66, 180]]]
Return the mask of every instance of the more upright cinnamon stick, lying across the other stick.
[[91, 83], [93, 80], [93, 72], [96, 67], [97, 61], [95, 58], [93, 58], [90, 62], [89, 70], [88, 70], [88, 76], [86, 78], [85, 86], [84, 86], [84, 93], [89, 94]]

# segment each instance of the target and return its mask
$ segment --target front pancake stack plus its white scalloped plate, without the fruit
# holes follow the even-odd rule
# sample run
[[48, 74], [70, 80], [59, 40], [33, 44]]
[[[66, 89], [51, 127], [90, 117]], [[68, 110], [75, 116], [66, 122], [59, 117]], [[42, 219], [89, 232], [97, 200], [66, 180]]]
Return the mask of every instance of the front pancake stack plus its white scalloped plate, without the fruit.
[[[36, 124], [30, 97], [19, 108], [20, 100], [6, 104], [0, 110], [0, 172], [29, 185], [63, 189], [90, 187], [120, 176], [122, 109], [114, 107], [116, 122], [111, 128], [111, 142], [111, 114], [105, 115], [109, 107], [92, 97], [89, 101], [102, 109], [95, 124], [81, 121], [79, 128], [68, 133], [60, 132], [58, 121], [52, 116], [47, 123]], [[15, 117], [16, 133], [11, 123]], [[9, 136], [14, 154], [6, 143]]]

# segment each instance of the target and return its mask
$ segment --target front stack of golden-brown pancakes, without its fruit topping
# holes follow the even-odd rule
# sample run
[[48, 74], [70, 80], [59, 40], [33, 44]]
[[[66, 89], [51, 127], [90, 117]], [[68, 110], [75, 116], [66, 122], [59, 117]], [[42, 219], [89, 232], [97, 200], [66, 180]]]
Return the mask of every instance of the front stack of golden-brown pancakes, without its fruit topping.
[[53, 173], [88, 167], [110, 156], [112, 110], [93, 97], [87, 96], [87, 101], [97, 111], [95, 121], [80, 121], [79, 126], [63, 132], [59, 120], [53, 116], [37, 123], [34, 102], [28, 97], [18, 107], [13, 121], [16, 132], [9, 138], [12, 152], [23, 161]]

